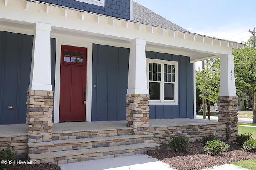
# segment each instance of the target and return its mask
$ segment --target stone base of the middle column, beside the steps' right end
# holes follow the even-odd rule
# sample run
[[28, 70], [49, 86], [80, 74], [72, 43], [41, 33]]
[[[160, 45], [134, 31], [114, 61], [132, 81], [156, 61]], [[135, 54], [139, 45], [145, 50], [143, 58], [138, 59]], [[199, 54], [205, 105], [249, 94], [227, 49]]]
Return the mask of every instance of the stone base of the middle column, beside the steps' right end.
[[126, 94], [126, 126], [133, 135], [149, 134], [149, 94]]

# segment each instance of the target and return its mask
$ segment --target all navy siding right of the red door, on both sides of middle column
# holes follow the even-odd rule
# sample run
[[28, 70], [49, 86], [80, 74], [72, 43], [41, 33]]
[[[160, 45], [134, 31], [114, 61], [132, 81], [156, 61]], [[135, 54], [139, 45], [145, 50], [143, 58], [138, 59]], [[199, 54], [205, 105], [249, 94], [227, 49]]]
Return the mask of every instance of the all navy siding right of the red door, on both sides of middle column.
[[[146, 51], [146, 58], [178, 61], [178, 105], [150, 105], [150, 119], [194, 117], [189, 57]], [[93, 45], [92, 121], [125, 120], [129, 49]], [[94, 86], [95, 85], [95, 86]]]

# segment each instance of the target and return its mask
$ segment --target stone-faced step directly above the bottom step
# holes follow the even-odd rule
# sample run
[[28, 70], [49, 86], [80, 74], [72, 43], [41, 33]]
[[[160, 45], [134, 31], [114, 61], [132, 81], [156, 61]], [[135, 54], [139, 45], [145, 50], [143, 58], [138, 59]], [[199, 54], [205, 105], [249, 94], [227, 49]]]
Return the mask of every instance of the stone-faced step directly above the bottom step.
[[29, 154], [55, 152], [63, 150], [110, 147], [135, 143], [153, 143], [154, 135], [121, 135], [111, 137], [92, 137], [80, 139], [64, 139], [50, 142], [28, 143]]

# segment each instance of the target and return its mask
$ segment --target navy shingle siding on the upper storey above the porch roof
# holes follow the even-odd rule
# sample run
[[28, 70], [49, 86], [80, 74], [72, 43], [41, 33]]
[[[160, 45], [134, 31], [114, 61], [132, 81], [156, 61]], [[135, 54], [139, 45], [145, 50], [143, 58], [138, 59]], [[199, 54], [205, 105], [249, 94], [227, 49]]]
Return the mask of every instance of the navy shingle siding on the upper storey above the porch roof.
[[105, 0], [105, 6], [97, 6], [76, 0], [37, 0], [49, 4], [66, 6], [76, 10], [94, 12], [107, 16], [130, 19], [130, 0]]

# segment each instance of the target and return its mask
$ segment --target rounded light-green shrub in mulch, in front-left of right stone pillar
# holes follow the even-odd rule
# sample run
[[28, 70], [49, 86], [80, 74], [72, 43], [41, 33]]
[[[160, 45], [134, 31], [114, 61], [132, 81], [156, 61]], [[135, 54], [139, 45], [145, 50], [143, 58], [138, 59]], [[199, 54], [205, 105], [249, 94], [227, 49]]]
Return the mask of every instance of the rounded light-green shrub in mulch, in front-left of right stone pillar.
[[210, 155], [220, 155], [222, 152], [228, 150], [229, 145], [220, 140], [208, 141], [204, 145], [204, 152]]

